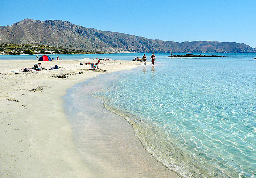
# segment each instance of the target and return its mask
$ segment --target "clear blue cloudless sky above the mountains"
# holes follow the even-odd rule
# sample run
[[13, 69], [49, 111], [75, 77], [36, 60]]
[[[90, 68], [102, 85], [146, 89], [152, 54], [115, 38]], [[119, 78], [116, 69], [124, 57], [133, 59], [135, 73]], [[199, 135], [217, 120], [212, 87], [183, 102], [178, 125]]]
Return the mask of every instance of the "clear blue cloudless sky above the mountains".
[[0, 0], [0, 25], [63, 20], [165, 41], [221, 41], [256, 47], [256, 0]]

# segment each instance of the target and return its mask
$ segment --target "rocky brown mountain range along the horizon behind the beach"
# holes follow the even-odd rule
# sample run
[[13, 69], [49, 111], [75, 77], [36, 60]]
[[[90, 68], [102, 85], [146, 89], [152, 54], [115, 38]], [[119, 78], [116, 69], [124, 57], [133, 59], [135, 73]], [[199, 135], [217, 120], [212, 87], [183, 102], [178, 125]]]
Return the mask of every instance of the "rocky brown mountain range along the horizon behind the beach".
[[40, 44], [94, 52], [256, 52], [256, 48], [243, 43], [151, 40], [86, 28], [69, 21], [33, 19], [0, 26], [0, 43]]

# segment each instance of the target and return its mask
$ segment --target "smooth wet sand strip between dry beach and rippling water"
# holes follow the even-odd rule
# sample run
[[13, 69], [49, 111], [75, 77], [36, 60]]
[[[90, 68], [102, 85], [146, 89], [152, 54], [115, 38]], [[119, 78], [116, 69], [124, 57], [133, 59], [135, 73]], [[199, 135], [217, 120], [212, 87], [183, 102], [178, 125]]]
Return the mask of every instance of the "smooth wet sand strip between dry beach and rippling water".
[[180, 177], [146, 152], [130, 122], [92, 95], [110, 87], [118, 74], [95, 76], [69, 88], [64, 96], [79, 154], [97, 170], [92, 177]]

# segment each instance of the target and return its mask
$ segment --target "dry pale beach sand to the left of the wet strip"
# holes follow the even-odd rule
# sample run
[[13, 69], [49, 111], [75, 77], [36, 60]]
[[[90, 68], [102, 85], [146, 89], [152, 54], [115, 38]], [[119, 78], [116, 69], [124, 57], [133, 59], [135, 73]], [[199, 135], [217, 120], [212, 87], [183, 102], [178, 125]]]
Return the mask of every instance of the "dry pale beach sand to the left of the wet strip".
[[[84, 63], [92, 60], [62, 60], [58, 61], [58, 66], [62, 67], [59, 70], [18, 74], [10, 72], [14, 69], [30, 67], [37, 63], [37, 60], [0, 61], [2, 85], [0, 103], [3, 106], [0, 110], [2, 118], [0, 175], [91, 177], [90, 165], [86, 164], [75, 151], [74, 135], [62, 107], [64, 101], [61, 98], [66, 94], [66, 90], [76, 83], [102, 74], [86, 71], [85, 69], [90, 68], [90, 65], [80, 66], [79, 61]], [[128, 70], [142, 65], [139, 62], [120, 60], [102, 62], [104, 64], [99, 67], [109, 72]], [[41, 63], [42, 67], [46, 68], [54, 65], [47, 61]], [[85, 73], [78, 74], [80, 71]], [[69, 79], [51, 76], [55, 73], [68, 72], [76, 75], [69, 76]], [[43, 86], [43, 92], [29, 91], [37, 86]], [[15, 98], [19, 102], [8, 101], [7, 98]]]

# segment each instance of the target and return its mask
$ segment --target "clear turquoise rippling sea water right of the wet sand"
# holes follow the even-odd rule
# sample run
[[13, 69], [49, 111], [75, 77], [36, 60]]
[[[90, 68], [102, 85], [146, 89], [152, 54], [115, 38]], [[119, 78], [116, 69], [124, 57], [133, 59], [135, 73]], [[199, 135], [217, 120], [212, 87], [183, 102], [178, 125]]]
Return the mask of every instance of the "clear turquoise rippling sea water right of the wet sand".
[[155, 66], [118, 73], [111, 87], [93, 95], [181, 176], [255, 177], [256, 55], [167, 55], [156, 54]]

